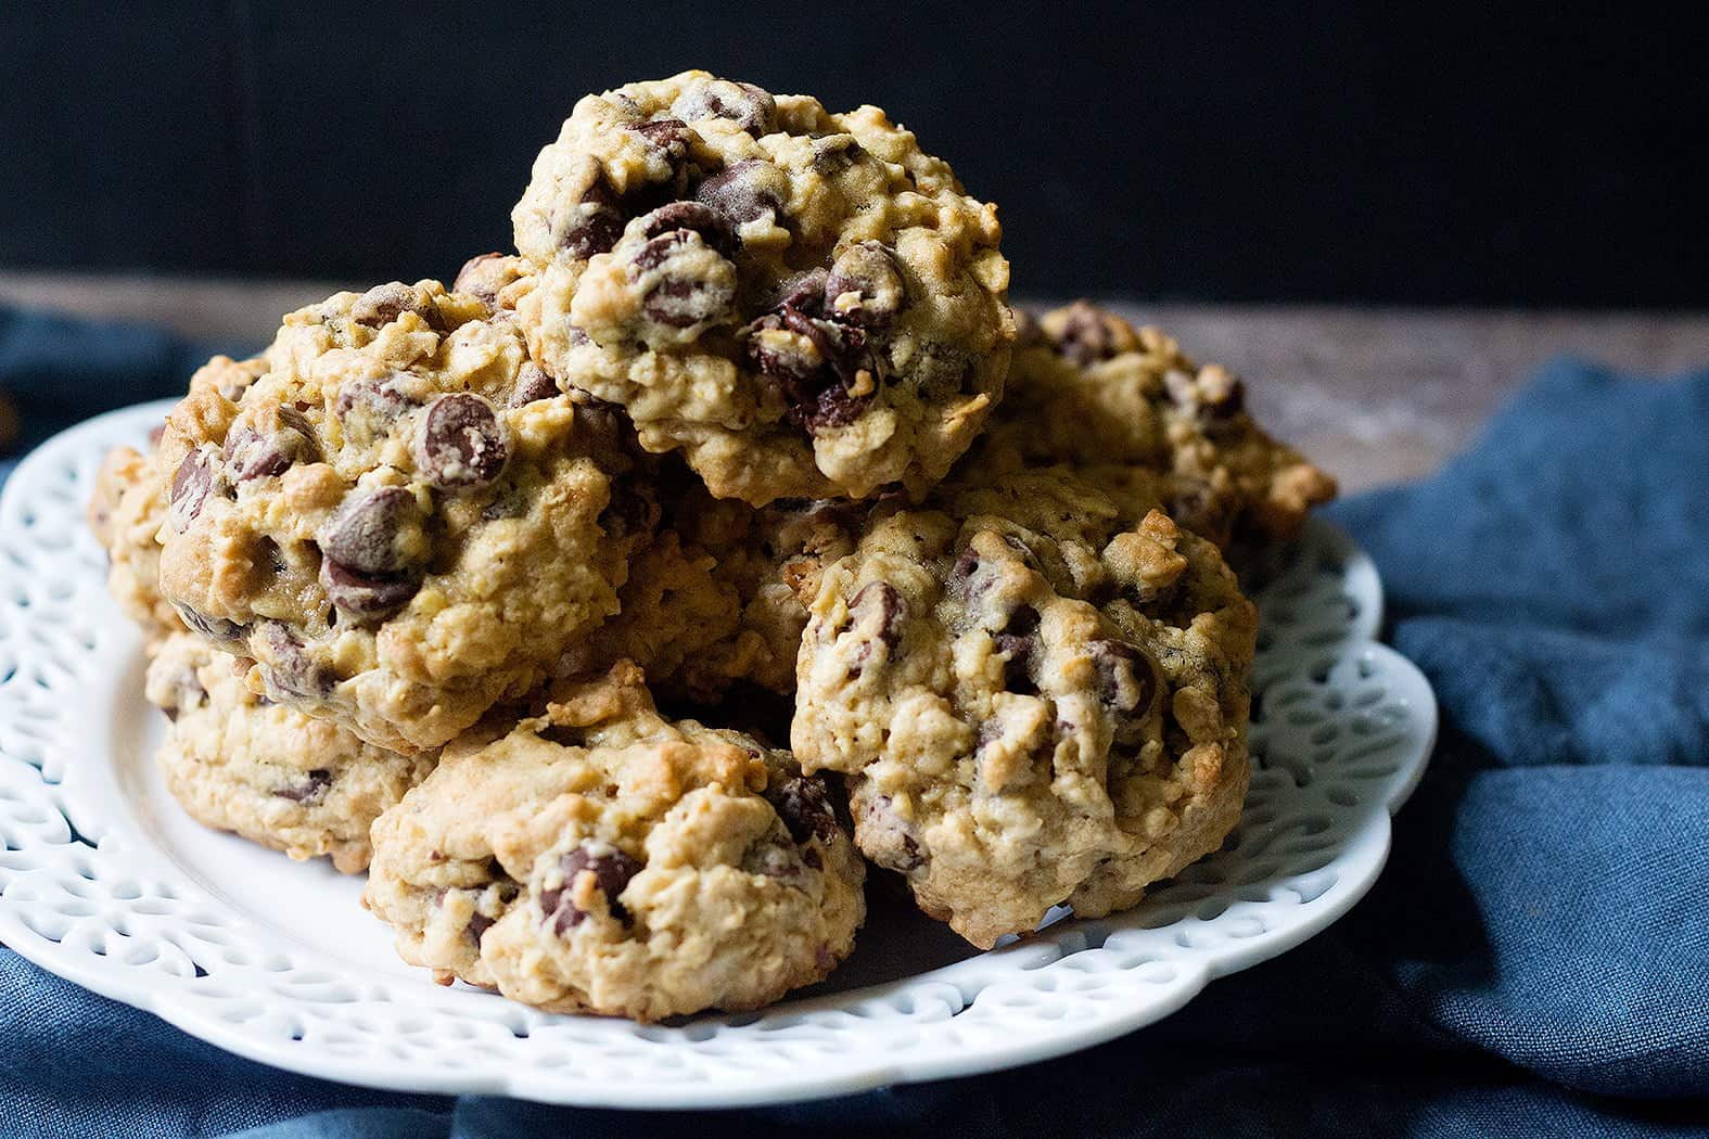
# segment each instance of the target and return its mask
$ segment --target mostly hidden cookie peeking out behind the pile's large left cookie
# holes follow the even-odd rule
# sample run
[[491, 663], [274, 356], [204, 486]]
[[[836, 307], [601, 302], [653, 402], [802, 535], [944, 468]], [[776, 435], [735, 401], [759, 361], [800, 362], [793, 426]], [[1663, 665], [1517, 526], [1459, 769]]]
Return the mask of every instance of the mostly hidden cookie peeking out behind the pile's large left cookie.
[[[261, 360], [217, 355], [190, 377], [191, 391], [217, 391], [238, 401], [260, 376]], [[183, 628], [178, 613], [161, 596], [161, 523], [166, 521], [166, 478], [159, 471], [157, 439], [147, 454], [115, 447], [96, 473], [89, 499], [89, 528], [108, 555], [108, 591], [125, 616], [142, 627], [149, 642]]]

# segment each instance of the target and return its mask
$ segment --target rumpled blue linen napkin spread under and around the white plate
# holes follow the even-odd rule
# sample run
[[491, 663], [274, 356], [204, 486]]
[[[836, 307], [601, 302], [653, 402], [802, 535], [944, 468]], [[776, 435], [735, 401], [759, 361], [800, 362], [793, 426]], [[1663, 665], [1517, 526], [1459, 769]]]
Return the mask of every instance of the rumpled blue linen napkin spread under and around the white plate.
[[[87, 413], [174, 389], [186, 350], [0, 314], [0, 389]], [[0, 1136], [1702, 1134], [1709, 372], [1560, 360], [1437, 476], [1331, 514], [1442, 741], [1371, 897], [1160, 1025], [993, 1078], [622, 1113], [275, 1072], [0, 948]]]

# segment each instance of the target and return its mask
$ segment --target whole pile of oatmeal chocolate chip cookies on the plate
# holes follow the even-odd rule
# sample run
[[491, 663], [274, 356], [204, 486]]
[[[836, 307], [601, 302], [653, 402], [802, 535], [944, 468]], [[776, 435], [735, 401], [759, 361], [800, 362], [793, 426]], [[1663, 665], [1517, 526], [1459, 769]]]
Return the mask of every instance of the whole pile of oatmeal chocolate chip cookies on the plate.
[[1239, 379], [1010, 311], [995, 207], [870, 106], [590, 96], [513, 220], [109, 456], [186, 811], [369, 869], [444, 982], [639, 1019], [825, 977], [868, 862], [991, 946], [1220, 845], [1227, 558], [1335, 490]]

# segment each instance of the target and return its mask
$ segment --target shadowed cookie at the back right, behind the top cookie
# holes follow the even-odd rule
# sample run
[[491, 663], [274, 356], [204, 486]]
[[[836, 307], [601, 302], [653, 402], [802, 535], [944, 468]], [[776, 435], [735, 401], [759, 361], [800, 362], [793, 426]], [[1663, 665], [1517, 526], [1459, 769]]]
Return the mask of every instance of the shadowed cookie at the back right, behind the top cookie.
[[1082, 466], [1118, 497], [1123, 468], [1148, 468], [1174, 521], [1220, 546], [1285, 541], [1335, 497], [1333, 478], [1258, 427], [1236, 376], [1159, 330], [1085, 301], [1020, 326], [981, 463]]

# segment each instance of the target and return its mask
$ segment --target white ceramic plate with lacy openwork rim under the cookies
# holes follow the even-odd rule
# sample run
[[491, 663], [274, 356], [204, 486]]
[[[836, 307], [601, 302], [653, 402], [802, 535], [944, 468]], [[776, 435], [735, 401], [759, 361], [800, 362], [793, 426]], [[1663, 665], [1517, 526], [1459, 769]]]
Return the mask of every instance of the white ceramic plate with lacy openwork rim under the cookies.
[[1260, 596], [1253, 789], [1225, 849], [1140, 908], [979, 953], [880, 908], [831, 982], [673, 1026], [441, 989], [361, 881], [191, 823], [149, 758], [142, 645], [84, 528], [103, 453], [167, 405], [36, 451], [0, 499], [0, 941], [222, 1048], [347, 1083], [612, 1107], [735, 1107], [988, 1072], [1150, 1025], [1271, 958], [1376, 881], [1436, 702], [1372, 639], [1376, 572], [1314, 524]]

